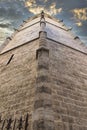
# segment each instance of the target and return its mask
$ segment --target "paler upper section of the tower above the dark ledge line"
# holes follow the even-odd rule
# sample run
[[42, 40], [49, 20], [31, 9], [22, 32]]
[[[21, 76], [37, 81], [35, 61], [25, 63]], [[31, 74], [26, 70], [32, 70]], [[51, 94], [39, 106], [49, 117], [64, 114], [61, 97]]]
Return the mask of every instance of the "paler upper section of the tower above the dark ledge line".
[[46, 25], [45, 32], [47, 33], [47, 39], [87, 54], [87, 46], [81, 42], [79, 37], [71, 33], [70, 28], [67, 28], [63, 21], [45, 14], [44, 11], [24, 21], [12, 37], [3, 43], [0, 49], [1, 54], [38, 39], [39, 32], [41, 31], [41, 24], [42, 30], [44, 30], [43, 27]]

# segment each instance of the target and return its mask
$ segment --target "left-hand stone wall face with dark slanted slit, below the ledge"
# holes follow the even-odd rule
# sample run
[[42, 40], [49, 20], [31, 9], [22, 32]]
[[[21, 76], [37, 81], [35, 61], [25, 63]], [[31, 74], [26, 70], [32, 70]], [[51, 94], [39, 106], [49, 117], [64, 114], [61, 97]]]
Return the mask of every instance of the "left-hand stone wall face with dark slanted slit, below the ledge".
[[37, 48], [38, 40], [0, 55], [0, 130], [9, 130], [9, 119], [12, 130], [23, 123], [24, 128], [27, 114], [28, 129], [32, 129]]

